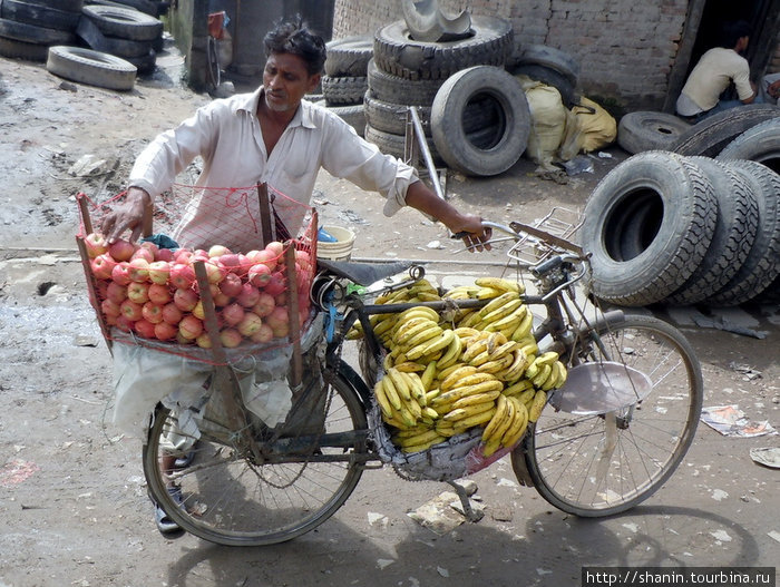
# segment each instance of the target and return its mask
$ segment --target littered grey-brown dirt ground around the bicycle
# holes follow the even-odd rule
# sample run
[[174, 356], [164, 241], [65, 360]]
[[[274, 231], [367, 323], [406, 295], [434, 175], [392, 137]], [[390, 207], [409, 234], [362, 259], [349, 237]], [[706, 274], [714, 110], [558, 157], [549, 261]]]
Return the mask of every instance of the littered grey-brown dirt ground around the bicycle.
[[[176, 60], [128, 94], [64, 82], [40, 65], [0, 58], [0, 587], [471, 586], [581, 583], [583, 566], [763, 566], [780, 560], [780, 477], [751, 448], [700, 424], [666, 487], [628, 513], [582, 520], [519, 487], [508, 460], [472, 477], [486, 516], [437, 535], [407, 513], [445, 485], [371, 470], [318, 530], [284, 545], [226, 548], [156, 529], [140, 441], [110, 423], [111, 359], [88, 304], [74, 235], [75, 195], [103, 200], [124, 187], [146, 141], [209, 98], [185, 89]], [[466, 211], [503, 222], [553, 206], [581, 209], [626, 157], [594, 156], [593, 174], [565, 184], [521, 159], [499, 178], [450, 176]], [[74, 175], [98, 163], [90, 176]], [[103, 163], [100, 163], [103, 162]], [[80, 172], [80, 173], [84, 173]], [[468, 255], [413, 211], [381, 216], [381, 200], [323, 174], [314, 204], [350, 224], [359, 257], [433, 260], [439, 276], [500, 271], [501, 253]], [[448, 264], [449, 263], [449, 264]], [[490, 264], [494, 263], [494, 264]], [[718, 314], [757, 334], [693, 324], [657, 311], [690, 337], [705, 405], [737, 404], [780, 425], [780, 313]], [[759, 337], [760, 336], [760, 337]]]

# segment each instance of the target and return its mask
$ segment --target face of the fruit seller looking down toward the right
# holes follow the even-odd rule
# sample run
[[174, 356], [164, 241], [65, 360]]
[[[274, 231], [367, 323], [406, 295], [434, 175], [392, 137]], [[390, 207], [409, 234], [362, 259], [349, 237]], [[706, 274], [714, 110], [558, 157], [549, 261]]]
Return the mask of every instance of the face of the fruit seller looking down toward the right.
[[290, 53], [272, 53], [263, 70], [265, 105], [270, 110], [294, 110], [301, 98], [320, 82], [320, 74], [309, 75], [303, 58]]

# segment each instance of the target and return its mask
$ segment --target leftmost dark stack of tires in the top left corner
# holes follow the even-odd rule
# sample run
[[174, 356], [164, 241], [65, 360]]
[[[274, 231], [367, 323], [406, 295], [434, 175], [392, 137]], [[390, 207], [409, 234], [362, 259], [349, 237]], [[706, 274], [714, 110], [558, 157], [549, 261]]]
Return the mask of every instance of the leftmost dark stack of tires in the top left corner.
[[0, 55], [46, 61], [49, 47], [77, 41], [82, 6], [82, 0], [1, 0]]

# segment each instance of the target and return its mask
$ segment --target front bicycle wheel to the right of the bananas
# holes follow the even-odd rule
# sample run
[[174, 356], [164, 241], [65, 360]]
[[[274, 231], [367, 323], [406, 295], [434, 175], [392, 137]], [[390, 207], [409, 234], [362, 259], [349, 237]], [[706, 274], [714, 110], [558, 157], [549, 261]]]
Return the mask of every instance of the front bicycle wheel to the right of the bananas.
[[618, 361], [645, 373], [649, 395], [603, 415], [555, 412], [547, 405], [511, 454], [548, 502], [575, 516], [625, 511], [652, 496], [688, 451], [701, 413], [703, 381], [685, 337], [652, 316], [626, 316], [598, 332], [586, 362]]

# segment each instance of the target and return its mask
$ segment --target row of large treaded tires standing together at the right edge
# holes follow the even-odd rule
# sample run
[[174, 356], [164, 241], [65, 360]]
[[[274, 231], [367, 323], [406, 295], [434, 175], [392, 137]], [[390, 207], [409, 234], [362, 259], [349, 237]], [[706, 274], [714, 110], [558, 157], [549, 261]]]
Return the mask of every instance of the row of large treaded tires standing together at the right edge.
[[780, 117], [715, 158], [650, 150], [596, 186], [584, 211], [592, 292], [625, 306], [778, 303]]

